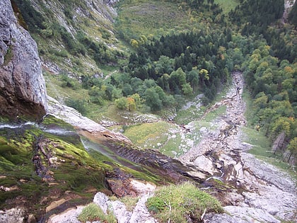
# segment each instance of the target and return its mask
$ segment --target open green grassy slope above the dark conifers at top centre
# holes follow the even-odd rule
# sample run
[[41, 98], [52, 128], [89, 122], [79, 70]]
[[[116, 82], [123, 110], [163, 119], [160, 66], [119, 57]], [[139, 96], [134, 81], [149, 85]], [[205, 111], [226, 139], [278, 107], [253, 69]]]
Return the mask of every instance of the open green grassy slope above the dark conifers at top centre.
[[165, 30], [190, 21], [179, 4], [168, 1], [120, 1], [118, 6], [117, 30], [127, 40], [137, 35], [163, 35]]

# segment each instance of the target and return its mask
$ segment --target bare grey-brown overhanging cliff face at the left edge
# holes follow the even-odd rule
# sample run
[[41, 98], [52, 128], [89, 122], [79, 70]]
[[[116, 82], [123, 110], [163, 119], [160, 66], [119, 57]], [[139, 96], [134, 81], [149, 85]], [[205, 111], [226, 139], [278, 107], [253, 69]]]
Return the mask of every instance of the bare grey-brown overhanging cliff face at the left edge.
[[47, 111], [36, 42], [18, 25], [9, 0], [0, 1], [0, 115], [40, 119]]

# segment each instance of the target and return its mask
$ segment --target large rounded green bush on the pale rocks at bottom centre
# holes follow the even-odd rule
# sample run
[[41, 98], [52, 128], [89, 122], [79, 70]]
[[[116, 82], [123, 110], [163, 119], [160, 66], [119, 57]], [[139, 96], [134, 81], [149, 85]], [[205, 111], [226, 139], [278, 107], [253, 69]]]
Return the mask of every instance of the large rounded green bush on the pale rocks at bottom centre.
[[223, 208], [216, 198], [199, 190], [192, 183], [169, 185], [156, 191], [146, 202], [148, 210], [160, 222], [193, 222], [200, 221], [204, 210], [206, 212], [223, 212]]

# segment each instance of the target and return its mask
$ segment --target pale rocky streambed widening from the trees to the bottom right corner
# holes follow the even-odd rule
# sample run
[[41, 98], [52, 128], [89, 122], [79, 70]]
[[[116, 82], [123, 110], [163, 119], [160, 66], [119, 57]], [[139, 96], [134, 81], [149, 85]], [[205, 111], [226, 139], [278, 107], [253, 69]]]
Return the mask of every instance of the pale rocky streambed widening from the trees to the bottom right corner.
[[[296, 222], [295, 183], [288, 174], [246, 153], [252, 145], [243, 142], [242, 128], [246, 125], [243, 84], [242, 74], [233, 73], [233, 86], [226, 98], [206, 110], [208, 113], [226, 105], [226, 115], [216, 118], [211, 128], [202, 127], [199, 144], [179, 159], [209, 172], [212, 177], [206, 181], [221, 181], [228, 188], [217, 196], [233, 217], [209, 216], [211, 222], [238, 222], [239, 219]], [[187, 127], [191, 131], [191, 123]]]

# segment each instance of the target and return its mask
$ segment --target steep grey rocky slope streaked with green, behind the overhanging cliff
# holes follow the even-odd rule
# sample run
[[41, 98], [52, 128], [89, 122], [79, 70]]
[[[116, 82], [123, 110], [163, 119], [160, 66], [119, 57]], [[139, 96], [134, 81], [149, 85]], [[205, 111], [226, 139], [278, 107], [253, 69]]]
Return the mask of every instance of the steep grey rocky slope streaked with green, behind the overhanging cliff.
[[98, 74], [122, 55], [112, 28], [116, 1], [12, 2], [37, 41], [43, 67], [54, 74]]

